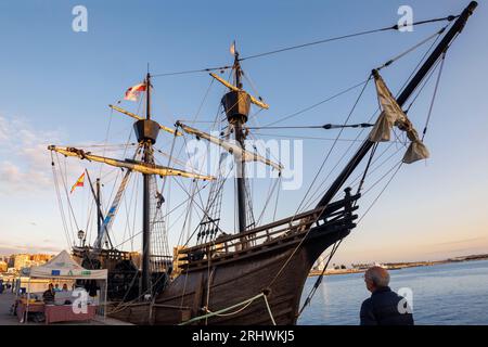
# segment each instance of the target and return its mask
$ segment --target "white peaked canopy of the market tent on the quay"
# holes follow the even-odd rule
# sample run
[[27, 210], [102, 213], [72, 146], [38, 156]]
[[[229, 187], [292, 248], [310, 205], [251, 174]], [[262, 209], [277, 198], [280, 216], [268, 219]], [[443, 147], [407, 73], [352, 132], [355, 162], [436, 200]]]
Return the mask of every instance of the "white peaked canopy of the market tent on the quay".
[[106, 280], [107, 270], [88, 270], [72, 259], [66, 250], [49, 262], [30, 268], [31, 279]]

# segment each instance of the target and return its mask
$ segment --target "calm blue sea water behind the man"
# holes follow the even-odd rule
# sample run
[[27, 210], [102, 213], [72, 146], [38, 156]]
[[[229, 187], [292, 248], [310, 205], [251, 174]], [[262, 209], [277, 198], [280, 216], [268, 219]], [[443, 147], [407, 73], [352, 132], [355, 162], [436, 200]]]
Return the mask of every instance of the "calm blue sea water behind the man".
[[[390, 287], [410, 287], [415, 324], [488, 324], [488, 260], [390, 271]], [[309, 278], [303, 299], [317, 278]], [[359, 324], [370, 296], [362, 273], [324, 277], [300, 325]]]

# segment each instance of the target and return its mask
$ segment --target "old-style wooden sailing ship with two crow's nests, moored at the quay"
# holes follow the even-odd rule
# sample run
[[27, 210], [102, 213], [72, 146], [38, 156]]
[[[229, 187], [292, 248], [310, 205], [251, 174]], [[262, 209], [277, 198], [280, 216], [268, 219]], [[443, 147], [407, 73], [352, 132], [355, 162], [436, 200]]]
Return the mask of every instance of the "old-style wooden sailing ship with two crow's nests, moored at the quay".
[[[280, 170], [282, 166], [245, 149], [246, 121], [251, 104], [262, 108], [266, 108], [267, 104], [243, 89], [241, 59], [235, 47], [232, 65], [233, 82], [213, 75], [213, 78], [229, 89], [221, 100], [228, 129], [230, 129], [227, 139], [213, 137], [183, 123], [177, 123], [177, 129], [171, 130], [153, 120], [151, 117], [152, 76], [147, 74], [144, 80], [145, 118], [112, 106], [137, 118], [134, 129], [138, 149], [133, 158], [116, 160], [74, 147], [50, 146], [51, 151], [66, 156], [125, 168], [127, 176], [130, 172], [143, 175], [141, 271], [130, 280], [132, 284], [137, 282], [139, 295], [114, 305], [111, 316], [136, 324], [295, 324], [299, 316], [304, 284], [313, 264], [324, 250], [335, 248], [356, 227], [361, 192], [360, 190], [352, 192], [350, 188], [344, 187], [347, 179], [365, 158], [371, 162], [372, 149], [375, 149], [378, 142], [388, 139], [388, 131], [393, 126], [404, 131], [411, 142], [403, 163], [412, 163], [428, 156], [428, 151], [401, 107], [433, 67], [444, 59], [447, 49], [462, 31], [476, 5], [476, 2], [470, 3], [459, 16], [449, 20], [453, 22], [449, 30], [439, 33], [439, 37], [440, 35], [444, 37], [398, 98], [391, 95], [378, 69], [372, 72], [371, 78], [375, 81], [382, 105], [382, 113], [373, 130], [314, 208], [281, 220], [254, 226], [248, 217], [246, 162], [261, 162], [277, 170]], [[155, 207], [152, 203], [155, 195], [154, 191], [151, 192], [152, 177], [154, 175], [181, 176], [198, 180], [216, 178], [156, 165], [153, 145], [160, 129], [171, 132], [175, 137], [184, 132], [223, 147], [234, 156], [239, 172], [235, 179], [237, 232], [219, 234], [216, 217], [207, 214], [200, 223], [197, 244], [179, 247], [172, 260], [164, 258], [167, 256], [155, 259], [155, 255], [151, 253], [152, 229], [155, 226], [153, 217]], [[235, 140], [233, 143], [228, 141], [231, 134]], [[95, 193], [93, 195], [100, 196]], [[113, 204], [105, 218], [100, 211], [97, 242], [92, 248], [76, 248], [75, 253], [80, 257], [110, 259], [112, 255], [117, 261], [130, 260], [127, 253], [102, 249], [103, 240], [108, 234], [110, 216], [117, 209], [117, 204]], [[103, 265], [107, 264], [105, 260]], [[155, 290], [157, 283], [159, 286]]]

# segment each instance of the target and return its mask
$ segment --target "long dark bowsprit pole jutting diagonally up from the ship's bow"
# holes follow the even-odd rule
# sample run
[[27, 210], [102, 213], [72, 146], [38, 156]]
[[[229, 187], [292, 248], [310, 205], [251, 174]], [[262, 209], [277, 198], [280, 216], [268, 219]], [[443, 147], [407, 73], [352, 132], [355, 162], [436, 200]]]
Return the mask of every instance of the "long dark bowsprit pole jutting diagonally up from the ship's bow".
[[[425, 63], [415, 74], [415, 76], [410, 80], [407, 87], [403, 89], [401, 94], [398, 97], [397, 102], [400, 107], [407, 102], [407, 100], [411, 97], [411, 94], [415, 91], [416, 87], [422, 82], [428, 72], [433, 68], [437, 60], [446, 52], [451, 42], [455, 39], [458, 34], [460, 34], [470, 16], [473, 14], [473, 11], [476, 9], [478, 3], [476, 1], [472, 1], [461, 13], [454, 24], [451, 26], [449, 31], [445, 35], [442, 40], [437, 44], [436, 49], [431, 53]], [[358, 152], [354, 155], [354, 157], [349, 160], [346, 167], [343, 169], [341, 175], [335, 179], [335, 181], [331, 184], [329, 190], [320, 200], [317, 207], [328, 205], [335, 194], [341, 190], [343, 184], [349, 178], [349, 176], [354, 172], [354, 170], [358, 167], [359, 163], [364, 158], [367, 153], [371, 150], [374, 142], [370, 140], [365, 140]]]

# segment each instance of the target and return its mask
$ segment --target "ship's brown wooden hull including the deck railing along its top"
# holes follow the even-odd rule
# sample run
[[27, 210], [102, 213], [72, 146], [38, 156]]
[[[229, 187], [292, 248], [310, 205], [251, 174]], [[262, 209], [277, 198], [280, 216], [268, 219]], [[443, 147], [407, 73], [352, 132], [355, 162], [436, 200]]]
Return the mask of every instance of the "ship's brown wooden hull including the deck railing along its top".
[[181, 252], [183, 271], [151, 303], [110, 316], [134, 324], [295, 324], [318, 257], [356, 227], [359, 194]]

